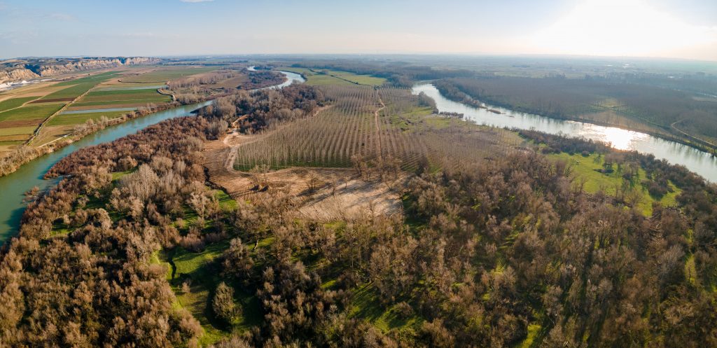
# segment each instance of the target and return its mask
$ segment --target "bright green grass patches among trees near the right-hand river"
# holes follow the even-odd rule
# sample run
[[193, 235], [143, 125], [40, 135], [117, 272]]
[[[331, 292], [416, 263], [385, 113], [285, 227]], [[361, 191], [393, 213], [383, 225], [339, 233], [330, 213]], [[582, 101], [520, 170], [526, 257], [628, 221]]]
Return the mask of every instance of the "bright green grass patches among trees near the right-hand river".
[[[615, 170], [611, 174], [603, 174], [597, 170], [603, 169], [604, 159], [598, 154], [590, 154], [589, 156], [581, 156], [580, 154], [550, 154], [549, 159], [554, 161], [566, 161], [571, 165], [573, 174], [578, 178], [585, 179], [584, 190], [588, 193], [596, 193], [599, 191], [605, 194], [614, 194], [615, 187], [622, 185], [623, 180], [622, 174]], [[633, 184], [632, 188], [640, 195], [640, 200], [637, 202], [637, 209], [642, 212], [645, 216], [652, 215], [652, 202], [659, 202], [663, 207], [670, 207], [677, 204], [675, 198], [680, 194], [682, 190], [675, 187], [671, 182], [669, 183], [670, 188], [673, 192], [668, 192], [660, 199], [650, 196], [647, 189], [642, 187], [640, 181], [645, 179], [645, 171], [640, 168], [638, 169], [637, 182]]]

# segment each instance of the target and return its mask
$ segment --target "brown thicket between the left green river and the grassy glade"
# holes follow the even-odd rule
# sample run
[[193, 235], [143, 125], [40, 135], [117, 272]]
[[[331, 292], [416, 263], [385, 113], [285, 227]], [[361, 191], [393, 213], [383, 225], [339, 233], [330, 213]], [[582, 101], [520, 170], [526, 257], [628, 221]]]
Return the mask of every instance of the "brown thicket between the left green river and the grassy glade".
[[[54, 166], [49, 176], [70, 175], [28, 205], [19, 235], [2, 250], [2, 345], [186, 347], [193, 338], [196, 342], [201, 326], [174, 309], [166, 268], [151, 259], [160, 245], [178, 238], [173, 227], [159, 223], [162, 214], [207, 199], [199, 165], [206, 123], [203, 118], [164, 121], [77, 151]], [[112, 171], [138, 164], [134, 174], [113, 184]]]

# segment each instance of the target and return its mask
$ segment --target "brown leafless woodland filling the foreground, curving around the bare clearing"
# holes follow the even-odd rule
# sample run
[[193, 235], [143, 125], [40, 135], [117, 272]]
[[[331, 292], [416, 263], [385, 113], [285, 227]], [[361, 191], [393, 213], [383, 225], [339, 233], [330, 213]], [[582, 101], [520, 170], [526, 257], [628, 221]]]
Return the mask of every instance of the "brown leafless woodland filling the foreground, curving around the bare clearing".
[[[380, 92], [387, 111], [401, 108], [399, 92]], [[234, 115], [242, 103], [232, 101]], [[683, 168], [523, 132], [543, 151], [637, 163], [682, 190], [679, 207], [645, 217], [528, 149], [480, 160], [443, 151], [436, 163], [470, 170], [412, 177], [404, 216], [325, 224], [282, 192], [222, 209], [199, 151], [224, 116], [204, 114], [77, 151], [50, 171], [70, 175], [29, 204], [1, 253], [0, 346], [195, 346], [203, 330], [173, 306], [156, 252], [218, 245], [201, 265], [222, 277], [206, 304], [229, 327], [217, 347], [717, 345], [717, 190]]]

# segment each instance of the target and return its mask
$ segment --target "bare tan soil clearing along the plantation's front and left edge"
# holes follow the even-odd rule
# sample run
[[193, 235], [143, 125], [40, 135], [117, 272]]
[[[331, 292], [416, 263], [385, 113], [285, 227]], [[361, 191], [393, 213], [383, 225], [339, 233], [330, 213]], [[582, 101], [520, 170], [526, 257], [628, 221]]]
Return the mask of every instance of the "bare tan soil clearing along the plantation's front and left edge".
[[313, 220], [356, 220], [361, 217], [402, 214], [398, 192], [406, 177], [392, 183], [361, 179], [347, 168], [295, 167], [252, 174], [234, 169], [236, 151], [255, 136], [232, 133], [204, 144], [204, 166], [209, 180], [234, 199], [251, 199], [259, 192], [285, 192], [302, 201], [300, 215]]

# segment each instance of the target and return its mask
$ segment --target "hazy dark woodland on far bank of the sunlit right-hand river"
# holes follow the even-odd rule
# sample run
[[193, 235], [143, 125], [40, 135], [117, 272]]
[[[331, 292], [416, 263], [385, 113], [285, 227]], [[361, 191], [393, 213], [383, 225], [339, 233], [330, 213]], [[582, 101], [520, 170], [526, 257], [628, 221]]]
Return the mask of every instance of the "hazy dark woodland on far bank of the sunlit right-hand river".
[[[612, 110], [678, 137], [683, 134], [675, 128], [708, 141], [717, 139], [717, 103], [695, 100], [688, 93], [637, 83], [635, 79], [482, 75], [440, 80], [435, 86], [447, 98], [457, 101], [470, 102], [474, 98], [526, 113], [564, 119]], [[605, 103], [604, 100], [613, 101]]]

